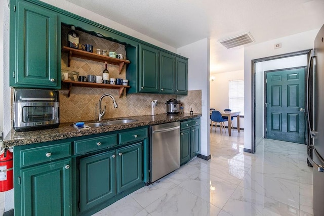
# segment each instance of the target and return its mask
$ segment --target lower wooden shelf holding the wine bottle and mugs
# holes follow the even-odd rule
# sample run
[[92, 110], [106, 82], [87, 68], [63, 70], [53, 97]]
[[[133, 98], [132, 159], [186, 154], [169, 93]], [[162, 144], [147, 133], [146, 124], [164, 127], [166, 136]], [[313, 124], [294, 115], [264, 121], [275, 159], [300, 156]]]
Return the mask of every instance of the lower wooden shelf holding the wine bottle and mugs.
[[121, 95], [126, 95], [126, 89], [131, 88], [129, 85], [112, 85], [112, 84], [103, 84], [95, 82], [79, 82], [72, 80], [62, 80], [62, 82], [68, 85], [68, 94], [67, 97], [70, 97], [70, 92], [72, 86], [74, 87], [90, 87], [90, 88], [101, 88], [101, 89], [119, 89], [119, 98]]

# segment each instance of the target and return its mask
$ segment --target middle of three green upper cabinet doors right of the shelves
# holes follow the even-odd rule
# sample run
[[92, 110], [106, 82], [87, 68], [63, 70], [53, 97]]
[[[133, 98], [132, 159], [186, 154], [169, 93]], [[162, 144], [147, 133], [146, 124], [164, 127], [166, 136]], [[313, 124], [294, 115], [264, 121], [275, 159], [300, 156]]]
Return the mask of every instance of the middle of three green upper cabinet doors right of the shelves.
[[171, 54], [159, 53], [159, 93], [174, 94], [175, 57]]

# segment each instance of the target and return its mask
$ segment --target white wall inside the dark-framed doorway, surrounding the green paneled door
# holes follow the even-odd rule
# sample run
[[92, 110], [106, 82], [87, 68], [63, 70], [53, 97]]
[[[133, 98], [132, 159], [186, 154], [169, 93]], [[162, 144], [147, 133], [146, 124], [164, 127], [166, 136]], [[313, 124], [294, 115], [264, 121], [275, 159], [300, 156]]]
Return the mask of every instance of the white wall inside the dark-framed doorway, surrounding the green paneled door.
[[[307, 55], [256, 63], [256, 125], [257, 144], [264, 138], [264, 71], [307, 66]], [[306, 75], [306, 74], [305, 74]]]

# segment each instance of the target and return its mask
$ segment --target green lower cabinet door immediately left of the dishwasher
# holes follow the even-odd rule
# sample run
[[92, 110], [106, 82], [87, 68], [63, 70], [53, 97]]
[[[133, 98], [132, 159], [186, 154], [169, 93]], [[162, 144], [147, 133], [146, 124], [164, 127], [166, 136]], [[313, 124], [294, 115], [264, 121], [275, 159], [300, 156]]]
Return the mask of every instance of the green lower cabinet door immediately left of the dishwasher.
[[143, 181], [143, 143], [116, 150], [117, 193], [123, 192]]

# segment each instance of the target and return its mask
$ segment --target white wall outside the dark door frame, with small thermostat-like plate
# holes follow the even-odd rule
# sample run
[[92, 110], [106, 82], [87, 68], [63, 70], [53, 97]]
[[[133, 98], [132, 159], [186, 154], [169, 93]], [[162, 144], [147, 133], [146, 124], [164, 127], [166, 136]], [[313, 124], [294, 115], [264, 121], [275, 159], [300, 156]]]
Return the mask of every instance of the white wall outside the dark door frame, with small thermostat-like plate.
[[[252, 149], [252, 113], [251, 110], [251, 86], [252, 86], [252, 72], [251, 72], [251, 61], [253, 59], [259, 59], [269, 56], [275, 56], [285, 53], [292, 53], [301, 50], [307, 50], [313, 48], [314, 39], [319, 29], [294, 34], [287, 37], [281, 37], [274, 40], [269, 40], [256, 44], [253, 46], [246, 47], [244, 49], [244, 110], [245, 110], [245, 124], [244, 124], [244, 148]], [[281, 42], [280, 49], [274, 49], [274, 45]]]

